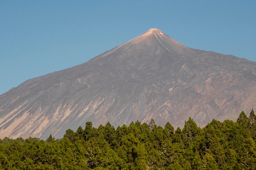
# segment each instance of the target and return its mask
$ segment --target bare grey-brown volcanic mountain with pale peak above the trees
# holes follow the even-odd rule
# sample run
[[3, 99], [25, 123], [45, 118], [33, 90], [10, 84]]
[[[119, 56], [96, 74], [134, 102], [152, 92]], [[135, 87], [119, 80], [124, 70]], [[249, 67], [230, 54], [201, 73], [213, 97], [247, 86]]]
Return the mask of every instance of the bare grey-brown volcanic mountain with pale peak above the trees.
[[177, 128], [192, 117], [236, 120], [256, 105], [256, 63], [191, 49], [150, 29], [92, 60], [29, 79], [0, 95], [0, 138], [63, 137], [108, 121]]

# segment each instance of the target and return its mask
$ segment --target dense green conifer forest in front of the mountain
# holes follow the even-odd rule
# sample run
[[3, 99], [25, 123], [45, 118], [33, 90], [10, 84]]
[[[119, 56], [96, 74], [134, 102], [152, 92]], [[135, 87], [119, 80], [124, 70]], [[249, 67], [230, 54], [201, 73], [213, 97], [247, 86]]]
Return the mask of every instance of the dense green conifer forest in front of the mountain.
[[214, 120], [199, 128], [193, 119], [177, 128], [139, 121], [115, 129], [87, 122], [62, 139], [0, 139], [4, 170], [255, 170], [256, 116]]

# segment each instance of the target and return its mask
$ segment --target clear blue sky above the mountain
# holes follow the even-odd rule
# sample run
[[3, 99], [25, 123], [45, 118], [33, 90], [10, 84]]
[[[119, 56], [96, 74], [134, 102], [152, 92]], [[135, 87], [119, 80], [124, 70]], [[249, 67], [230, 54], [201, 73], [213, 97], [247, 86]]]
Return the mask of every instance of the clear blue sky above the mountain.
[[150, 28], [195, 49], [256, 61], [255, 0], [0, 0], [0, 94]]

